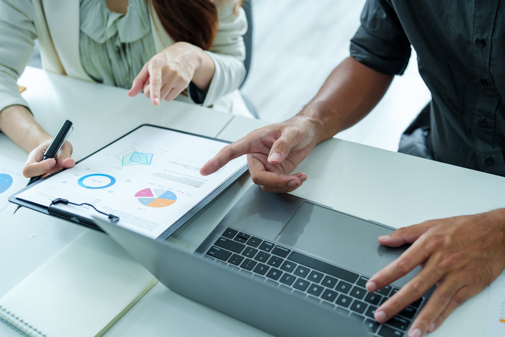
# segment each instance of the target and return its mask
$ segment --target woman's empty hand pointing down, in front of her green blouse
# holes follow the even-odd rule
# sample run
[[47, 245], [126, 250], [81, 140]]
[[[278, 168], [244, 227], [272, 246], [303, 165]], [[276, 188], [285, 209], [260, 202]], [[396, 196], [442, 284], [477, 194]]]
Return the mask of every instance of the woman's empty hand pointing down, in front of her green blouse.
[[193, 83], [207, 90], [214, 75], [214, 62], [202, 49], [187, 42], [177, 42], [150, 59], [133, 80], [130, 97], [144, 91], [155, 106], [161, 100], [172, 101]]

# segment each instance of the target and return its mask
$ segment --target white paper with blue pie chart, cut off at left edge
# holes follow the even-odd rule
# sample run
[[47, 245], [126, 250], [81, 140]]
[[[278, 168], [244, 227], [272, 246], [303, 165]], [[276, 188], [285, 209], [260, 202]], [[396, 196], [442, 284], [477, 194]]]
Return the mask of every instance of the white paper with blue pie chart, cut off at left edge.
[[28, 178], [21, 174], [23, 163], [0, 157], [0, 211], [9, 205], [9, 197], [26, 186]]

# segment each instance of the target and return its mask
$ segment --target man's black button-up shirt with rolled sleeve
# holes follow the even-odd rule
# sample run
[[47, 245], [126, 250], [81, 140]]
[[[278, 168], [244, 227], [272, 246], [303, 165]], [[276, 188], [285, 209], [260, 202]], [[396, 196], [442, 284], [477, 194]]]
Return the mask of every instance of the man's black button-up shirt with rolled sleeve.
[[[499, 14], [501, 13], [501, 15]], [[417, 52], [435, 160], [505, 176], [505, 3], [368, 0], [350, 53], [401, 75]]]

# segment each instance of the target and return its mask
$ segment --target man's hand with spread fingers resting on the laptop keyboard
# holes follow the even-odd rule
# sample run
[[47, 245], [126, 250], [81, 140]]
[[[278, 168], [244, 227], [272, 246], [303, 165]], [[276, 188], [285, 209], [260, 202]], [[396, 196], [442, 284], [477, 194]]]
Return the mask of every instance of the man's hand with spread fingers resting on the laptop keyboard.
[[452, 311], [482, 291], [505, 268], [505, 209], [425, 221], [399, 228], [378, 240], [390, 247], [413, 245], [370, 278], [369, 292], [423, 266], [418, 275], [375, 311], [378, 322], [387, 321], [437, 285], [408, 334], [420, 337], [439, 327]]

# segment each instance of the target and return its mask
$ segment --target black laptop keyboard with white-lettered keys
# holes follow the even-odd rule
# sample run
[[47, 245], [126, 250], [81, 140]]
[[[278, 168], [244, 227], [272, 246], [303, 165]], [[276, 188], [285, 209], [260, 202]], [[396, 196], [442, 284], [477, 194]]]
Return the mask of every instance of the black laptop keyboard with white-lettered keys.
[[365, 275], [233, 228], [226, 228], [204, 257], [360, 321], [373, 336], [406, 336], [425, 300], [420, 298], [379, 324], [374, 319], [375, 309], [395, 294], [397, 288], [387, 285], [369, 293], [365, 289], [369, 277]]

